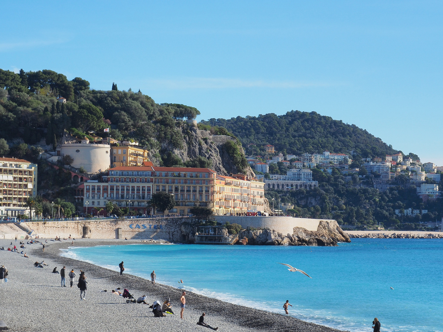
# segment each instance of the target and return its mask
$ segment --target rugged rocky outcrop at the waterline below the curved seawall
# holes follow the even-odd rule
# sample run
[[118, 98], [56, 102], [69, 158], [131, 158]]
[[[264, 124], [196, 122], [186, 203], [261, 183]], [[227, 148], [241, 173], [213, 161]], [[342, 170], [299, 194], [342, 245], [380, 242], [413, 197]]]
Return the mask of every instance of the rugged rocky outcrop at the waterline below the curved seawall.
[[293, 234], [283, 235], [275, 230], [241, 230], [236, 244], [336, 246], [338, 242], [351, 242], [335, 220], [321, 220], [316, 231], [294, 227]]

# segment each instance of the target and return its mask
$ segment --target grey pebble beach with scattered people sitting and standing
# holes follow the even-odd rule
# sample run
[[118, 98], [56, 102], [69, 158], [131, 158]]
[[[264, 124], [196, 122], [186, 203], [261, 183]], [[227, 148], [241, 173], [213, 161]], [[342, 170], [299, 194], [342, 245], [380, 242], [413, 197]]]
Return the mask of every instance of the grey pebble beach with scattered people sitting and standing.
[[[44, 242], [45, 239], [39, 239]], [[12, 246], [10, 245], [12, 241]], [[26, 240], [24, 241], [26, 243]], [[7, 249], [19, 241], [0, 239], [0, 247]], [[75, 246], [89, 247], [110, 244], [143, 243], [141, 241], [77, 239]], [[149, 244], [147, 244], [149, 245]], [[50, 241], [43, 253], [41, 244], [25, 244], [30, 258], [10, 251], [0, 251], [0, 266], [9, 270], [8, 282], [0, 283], [0, 320], [9, 331], [211, 331], [196, 324], [201, 313], [205, 322], [219, 331], [313, 331], [337, 332], [326, 326], [304, 322], [293, 317], [269, 313], [214, 298], [187, 292], [187, 308], [184, 319], [179, 315], [179, 289], [118, 272], [100, 266], [60, 256], [60, 249], [71, 246], [71, 241]], [[116, 258], [118, 261], [118, 258]], [[48, 264], [34, 267], [36, 261]], [[60, 275], [51, 273], [66, 266], [66, 274], [74, 269], [77, 277], [70, 288], [60, 286]], [[85, 271], [86, 301], [80, 301], [77, 280], [80, 270]], [[67, 277], [67, 275], [66, 275]], [[147, 302], [165, 301], [171, 298], [175, 314], [154, 317], [148, 305], [126, 303], [126, 299], [110, 291], [127, 288], [134, 297], [147, 295]], [[103, 290], [108, 290], [103, 292]]]

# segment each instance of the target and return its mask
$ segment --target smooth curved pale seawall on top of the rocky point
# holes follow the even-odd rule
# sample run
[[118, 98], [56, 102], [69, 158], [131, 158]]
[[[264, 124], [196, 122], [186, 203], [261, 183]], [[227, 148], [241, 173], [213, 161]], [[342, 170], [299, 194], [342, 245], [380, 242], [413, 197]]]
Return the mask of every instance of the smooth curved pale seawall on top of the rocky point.
[[320, 220], [335, 221], [328, 219], [309, 219], [309, 218], [292, 218], [292, 217], [265, 217], [265, 216], [215, 216], [220, 223], [228, 221], [230, 224], [240, 224], [241, 227], [247, 229], [273, 229], [284, 235], [292, 234], [294, 227], [304, 228], [308, 231], [315, 232], [319, 228]]

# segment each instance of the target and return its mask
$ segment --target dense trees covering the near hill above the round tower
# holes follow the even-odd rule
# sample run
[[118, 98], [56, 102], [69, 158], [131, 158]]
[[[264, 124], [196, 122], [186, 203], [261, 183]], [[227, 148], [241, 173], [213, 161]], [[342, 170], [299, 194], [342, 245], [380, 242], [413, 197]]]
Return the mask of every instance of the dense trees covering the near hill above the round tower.
[[[19, 74], [0, 69], [0, 120], [4, 124], [0, 139], [21, 138], [27, 144], [57, 144], [64, 130], [76, 136], [88, 136], [96, 131], [102, 137], [103, 128], [111, 127], [116, 139], [134, 139], [148, 149], [166, 152], [162, 147], [180, 148], [183, 134], [177, 119], [195, 119], [200, 112], [181, 104], [156, 104], [143, 93], [112, 90], [90, 90], [89, 82], [51, 70], [20, 71]], [[56, 97], [66, 98], [58, 103]], [[0, 142], [1, 145], [1, 142]], [[0, 146], [1, 147], [1, 146]]]

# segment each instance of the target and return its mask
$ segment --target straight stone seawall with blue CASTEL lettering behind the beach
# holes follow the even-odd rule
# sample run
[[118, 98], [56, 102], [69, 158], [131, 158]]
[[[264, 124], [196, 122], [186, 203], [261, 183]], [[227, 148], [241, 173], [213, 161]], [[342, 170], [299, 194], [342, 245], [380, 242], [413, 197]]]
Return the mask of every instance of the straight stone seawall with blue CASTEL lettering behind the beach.
[[[165, 239], [182, 242], [181, 226], [193, 218], [140, 218], [117, 220], [75, 220], [55, 222], [22, 222], [41, 238], [60, 236], [91, 239]], [[17, 228], [18, 229], [18, 228]], [[23, 231], [22, 231], [23, 232]]]

